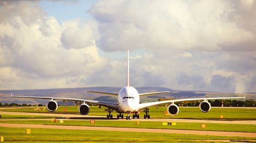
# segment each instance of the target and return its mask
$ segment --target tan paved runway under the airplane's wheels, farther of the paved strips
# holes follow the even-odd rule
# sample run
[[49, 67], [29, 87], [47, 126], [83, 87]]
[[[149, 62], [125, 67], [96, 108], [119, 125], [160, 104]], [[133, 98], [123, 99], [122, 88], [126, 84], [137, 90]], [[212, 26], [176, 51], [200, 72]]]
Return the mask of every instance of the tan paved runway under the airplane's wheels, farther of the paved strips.
[[[101, 121], [125, 121], [125, 119], [116, 118], [106, 119], [105, 116], [82, 116], [82, 115], [72, 115], [72, 114], [57, 114], [57, 113], [33, 113], [33, 112], [8, 112], [0, 111], [0, 115], [30, 115], [30, 116], [49, 116], [49, 117], [62, 117], [69, 120], [101, 120]], [[28, 119], [1, 119], [1, 120], [28, 120]], [[37, 119], [29, 119], [37, 120]], [[42, 119], [40, 119], [42, 120]], [[216, 120], [192, 120], [192, 119], [163, 119], [163, 118], [152, 118], [152, 119], [132, 119], [132, 121], [154, 121], [154, 122], [185, 122], [185, 123], [221, 123], [221, 124], [249, 124], [256, 125], [256, 120], [246, 120], [246, 121], [216, 121]]]

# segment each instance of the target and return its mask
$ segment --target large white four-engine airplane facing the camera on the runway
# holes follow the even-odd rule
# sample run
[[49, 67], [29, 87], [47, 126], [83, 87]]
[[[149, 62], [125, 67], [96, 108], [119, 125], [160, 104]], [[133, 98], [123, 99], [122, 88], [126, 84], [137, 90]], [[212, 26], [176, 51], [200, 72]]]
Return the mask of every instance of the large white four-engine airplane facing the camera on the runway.
[[199, 108], [202, 112], [208, 112], [211, 108], [210, 103], [208, 100], [216, 100], [216, 99], [243, 99], [244, 97], [218, 97], [218, 98], [188, 98], [188, 99], [173, 99], [173, 100], [165, 100], [165, 101], [156, 101], [156, 102], [148, 102], [148, 103], [140, 103], [140, 96], [147, 96], [153, 94], [163, 94], [169, 93], [169, 91], [164, 92], [154, 92], [154, 93], [142, 93], [139, 94], [138, 91], [130, 86], [130, 73], [129, 73], [129, 50], [127, 50], [127, 78], [126, 78], [126, 86], [123, 87], [118, 94], [116, 93], [104, 93], [104, 92], [96, 92], [96, 91], [88, 91], [90, 93], [96, 94], [106, 94], [111, 96], [117, 96], [117, 103], [111, 102], [102, 102], [102, 101], [95, 101], [95, 100], [87, 100], [87, 99], [76, 99], [76, 98], [59, 98], [59, 97], [35, 97], [35, 96], [12, 96], [16, 98], [37, 98], [37, 99], [49, 99], [46, 103], [46, 107], [48, 111], [55, 111], [58, 108], [58, 104], [55, 100], [62, 100], [62, 101], [75, 101], [81, 102], [82, 104], [78, 107], [78, 112], [81, 115], [88, 115], [90, 111], [90, 106], [88, 104], [98, 105], [99, 108], [101, 106], [108, 108], [108, 115], [106, 118], [113, 118], [112, 111], [116, 111], [119, 113], [117, 115], [117, 119], [123, 119], [123, 113], [127, 113], [126, 120], [131, 120], [132, 117], [130, 116], [133, 113], [133, 119], [139, 119], [139, 112], [144, 111], [144, 119], [150, 119], [149, 109], [148, 107], [158, 106], [161, 104], [169, 104], [167, 106], [167, 112], [174, 116], [177, 115], [179, 112], [179, 107], [175, 104], [175, 102], [182, 102], [182, 101], [202, 101], [199, 104]]

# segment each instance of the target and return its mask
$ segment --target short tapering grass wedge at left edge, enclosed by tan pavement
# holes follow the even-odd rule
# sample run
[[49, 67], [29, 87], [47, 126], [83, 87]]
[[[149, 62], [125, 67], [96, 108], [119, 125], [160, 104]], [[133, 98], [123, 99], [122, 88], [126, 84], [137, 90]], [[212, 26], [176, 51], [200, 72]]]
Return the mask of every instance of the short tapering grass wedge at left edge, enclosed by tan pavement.
[[1, 115], [1, 119], [49, 119], [49, 118], [58, 118], [50, 116], [32, 116], [32, 115]]

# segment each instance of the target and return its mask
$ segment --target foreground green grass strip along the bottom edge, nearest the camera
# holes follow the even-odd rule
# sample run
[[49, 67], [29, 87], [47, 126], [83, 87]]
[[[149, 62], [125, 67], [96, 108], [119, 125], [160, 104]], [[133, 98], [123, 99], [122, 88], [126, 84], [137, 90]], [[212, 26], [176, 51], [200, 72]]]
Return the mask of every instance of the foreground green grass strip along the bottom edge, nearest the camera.
[[226, 137], [211, 135], [183, 135], [144, 132], [117, 132], [93, 130], [37, 129], [31, 128], [31, 134], [25, 134], [25, 128], [0, 127], [0, 136], [4, 142], [221, 142], [208, 139], [256, 139], [249, 137]]

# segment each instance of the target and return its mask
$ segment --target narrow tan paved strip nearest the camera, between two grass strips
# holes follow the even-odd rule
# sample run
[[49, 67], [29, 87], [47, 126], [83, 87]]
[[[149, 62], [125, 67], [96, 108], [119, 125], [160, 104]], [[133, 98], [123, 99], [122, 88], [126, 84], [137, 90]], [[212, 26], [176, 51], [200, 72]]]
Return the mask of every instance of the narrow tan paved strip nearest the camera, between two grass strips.
[[226, 132], [226, 131], [118, 128], [118, 127], [90, 127], [90, 126], [60, 126], [60, 125], [36, 125], [36, 124], [5, 124], [5, 123], [0, 123], [0, 127], [69, 129], [69, 130], [101, 130], [101, 131], [103, 130], [103, 131], [123, 131], [123, 132], [151, 132], [151, 133], [171, 133], [171, 134], [197, 134], [197, 135], [256, 137], [256, 133]]

